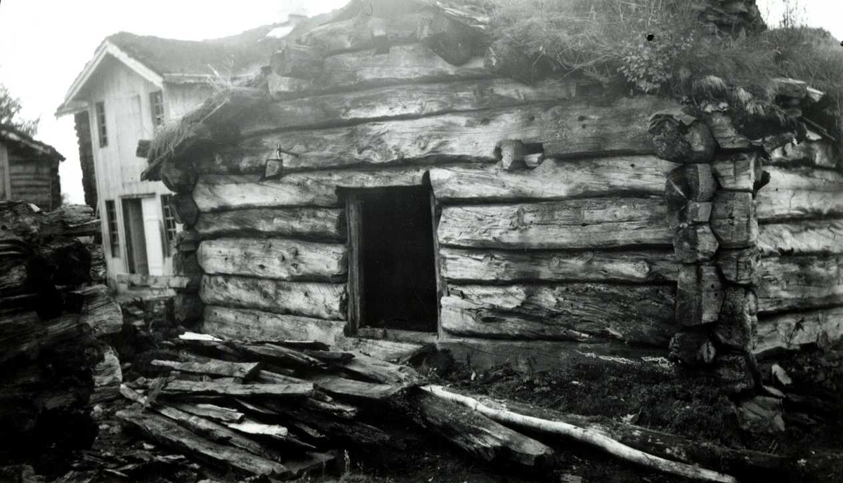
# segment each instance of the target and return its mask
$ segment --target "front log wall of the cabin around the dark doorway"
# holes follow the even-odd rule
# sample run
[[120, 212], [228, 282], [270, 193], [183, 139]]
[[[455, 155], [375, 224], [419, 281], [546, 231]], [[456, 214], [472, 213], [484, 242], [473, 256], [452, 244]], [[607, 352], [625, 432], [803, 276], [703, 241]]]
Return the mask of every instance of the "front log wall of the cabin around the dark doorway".
[[[202, 329], [345, 339], [341, 189], [430, 185], [438, 341], [666, 355], [679, 264], [664, 184], [677, 164], [655, 156], [647, 119], [673, 103], [583, 94], [573, 79], [529, 86], [481, 66], [409, 43], [329, 53], [321, 90], [271, 74], [273, 99], [241, 116], [236, 146], [193, 161], [176, 200], [194, 221], [179, 256], [197, 278], [181, 304], [203, 306]], [[266, 160], [279, 155], [272, 175]]]

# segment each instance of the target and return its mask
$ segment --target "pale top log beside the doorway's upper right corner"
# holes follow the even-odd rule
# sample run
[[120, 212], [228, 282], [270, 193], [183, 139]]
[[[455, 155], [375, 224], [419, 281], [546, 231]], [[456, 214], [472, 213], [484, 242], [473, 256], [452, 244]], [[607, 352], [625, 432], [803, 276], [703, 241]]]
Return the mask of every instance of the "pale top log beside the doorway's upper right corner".
[[439, 167], [430, 182], [438, 201], [562, 200], [583, 196], [661, 196], [665, 174], [676, 164], [653, 156], [618, 156], [562, 161], [507, 171], [500, 165]]

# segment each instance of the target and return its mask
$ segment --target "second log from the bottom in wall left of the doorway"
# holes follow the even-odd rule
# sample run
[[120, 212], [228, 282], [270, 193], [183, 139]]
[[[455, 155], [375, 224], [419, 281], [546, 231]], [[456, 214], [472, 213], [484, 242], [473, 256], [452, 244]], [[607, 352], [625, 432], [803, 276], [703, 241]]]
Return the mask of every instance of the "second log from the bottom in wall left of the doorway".
[[319, 319], [346, 317], [346, 285], [282, 282], [244, 276], [202, 276], [199, 292], [207, 305], [259, 309]]

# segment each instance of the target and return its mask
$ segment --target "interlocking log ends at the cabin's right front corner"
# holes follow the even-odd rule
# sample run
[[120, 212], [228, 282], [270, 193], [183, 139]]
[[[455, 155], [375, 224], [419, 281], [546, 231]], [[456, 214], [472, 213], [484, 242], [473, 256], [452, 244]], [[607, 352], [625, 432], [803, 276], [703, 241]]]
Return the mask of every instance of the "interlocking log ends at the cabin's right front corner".
[[753, 389], [760, 156], [718, 151], [706, 122], [688, 109], [652, 115], [649, 132], [658, 156], [681, 164], [665, 181], [667, 222], [682, 264], [680, 329], [670, 341], [670, 357], [713, 369], [729, 391]]

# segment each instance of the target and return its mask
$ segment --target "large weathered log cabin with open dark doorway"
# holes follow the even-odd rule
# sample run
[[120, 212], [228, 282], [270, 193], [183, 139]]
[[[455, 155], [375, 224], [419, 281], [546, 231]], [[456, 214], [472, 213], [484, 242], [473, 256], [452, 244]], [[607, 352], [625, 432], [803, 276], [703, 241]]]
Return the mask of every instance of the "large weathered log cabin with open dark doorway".
[[843, 335], [832, 137], [524, 82], [477, 8], [352, 2], [150, 153], [185, 225], [181, 322], [480, 366], [670, 357], [736, 392], [757, 357]]

